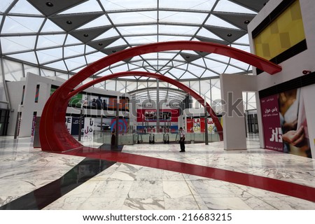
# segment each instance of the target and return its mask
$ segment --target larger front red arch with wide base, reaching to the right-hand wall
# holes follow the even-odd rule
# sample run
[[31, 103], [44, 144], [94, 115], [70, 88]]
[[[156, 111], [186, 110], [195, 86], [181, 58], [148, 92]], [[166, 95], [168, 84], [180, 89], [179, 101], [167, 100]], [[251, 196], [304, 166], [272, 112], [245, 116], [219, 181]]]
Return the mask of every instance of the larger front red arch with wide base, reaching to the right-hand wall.
[[66, 130], [64, 125], [64, 116], [68, 104], [67, 96], [76, 86], [83, 82], [86, 78], [92, 76], [97, 71], [104, 69], [106, 66], [120, 62], [124, 59], [143, 55], [149, 52], [160, 52], [165, 50], [195, 50], [203, 52], [214, 52], [219, 55], [225, 55], [239, 59], [242, 62], [251, 64], [262, 71], [274, 74], [281, 71], [281, 66], [262, 59], [251, 53], [231, 48], [218, 43], [205, 43], [201, 41], [169, 41], [162, 43], [152, 43], [129, 48], [116, 52], [112, 55], [99, 59], [97, 62], [85, 67], [76, 75], [66, 80], [50, 96], [46, 102], [41, 114], [41, 123], [39, 128], [39, 138], [41, 141], [41, 149], [43, 151], [69, 151], [74, 148], [80, 148], [82, 145], [76, 141]]

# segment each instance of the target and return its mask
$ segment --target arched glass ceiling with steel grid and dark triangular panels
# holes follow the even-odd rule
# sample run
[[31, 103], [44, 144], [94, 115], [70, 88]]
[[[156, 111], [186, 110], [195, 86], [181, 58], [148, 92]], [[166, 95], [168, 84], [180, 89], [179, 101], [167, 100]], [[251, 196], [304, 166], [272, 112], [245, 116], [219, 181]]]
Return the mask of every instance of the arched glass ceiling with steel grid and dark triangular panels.
[[[207, 41], [249, 52], [247, 25], [266, 2], [1, 0], [0, 54], [73, 74], [113, 52], [162, 41]], [[214, 53], [174, 50], [133, 57], [95, 77], [120, 71], [187, 80], [248, 73], [251, 66]]]

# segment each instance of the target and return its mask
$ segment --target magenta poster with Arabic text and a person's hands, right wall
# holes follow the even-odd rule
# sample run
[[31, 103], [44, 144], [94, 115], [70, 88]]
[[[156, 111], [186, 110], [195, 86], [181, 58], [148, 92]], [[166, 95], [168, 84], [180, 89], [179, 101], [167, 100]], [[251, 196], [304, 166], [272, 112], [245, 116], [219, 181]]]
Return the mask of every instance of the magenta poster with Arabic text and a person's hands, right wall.
[[302, 89], [260, 99], [265, 148], [311, 158]]

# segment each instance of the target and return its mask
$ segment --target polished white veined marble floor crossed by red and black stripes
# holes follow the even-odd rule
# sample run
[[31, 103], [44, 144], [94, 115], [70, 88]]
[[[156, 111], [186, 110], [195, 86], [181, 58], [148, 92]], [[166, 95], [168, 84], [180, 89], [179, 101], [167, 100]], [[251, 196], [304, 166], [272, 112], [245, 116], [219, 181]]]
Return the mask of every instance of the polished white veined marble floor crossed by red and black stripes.
[[244, 151], [215, 142], [186, 144], [186, 153], [179, 144], [136, 144], [82, 155], [90, 154], [46, 153], [30, 138], [0, 137], [0, 209], [315, 209], [315, 160], [261, 149], [256, 136]]

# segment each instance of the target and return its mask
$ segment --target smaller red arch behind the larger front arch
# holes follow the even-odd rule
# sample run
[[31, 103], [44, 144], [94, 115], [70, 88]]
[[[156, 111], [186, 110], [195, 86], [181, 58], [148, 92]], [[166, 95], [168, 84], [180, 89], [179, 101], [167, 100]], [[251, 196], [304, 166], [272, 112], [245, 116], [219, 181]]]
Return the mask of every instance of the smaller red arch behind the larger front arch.
[[[179, 87], [181, 90], [184, 90], [185, 92], [189, 93], [192, 97], [197, 99], [197, 101], [200, 102], [200, 104], [202, 104], [202, 106], [204, 106], [204, 99], [202, 99], [200, 94], [197, 94], [197, 92], [190, 89], [190, 87], [187, 87], [186, 85], [183, 85], [183, 83], [180, 83], [179, 81], [174, 80], [172, 78], [169, 78], [167, 76], [162, 76], [162, 75], [157, 74], [157, 73], [150, 73], [150, 72], [145, 72], [145, 71], [124, 71], [124, 72], [114, 73], [114, 74], [111, 74], [108, 76], [103, 76], [101, 78], [94, 79], [94, 80], [90, 81], [90, 83], [86, 83], [85, 85], [81, 85], [76, 90], [73, 90], [72, 92], [70, 92], [68, 97], [66, 98], [66, 100], [69, 101], [71, 99], [71, 97], [73, 97], [74, 95], [78, 94], [79, 92], [85, 90], [87, 87], [90, 87], [92, 85], [100, 83], [104, 80], [109, 80], [109, 79], [123, 77], [123, 76], [145, 76], [145, 77], [149, 77], [149, 78], [156, 78], [159, 80], [163, 80], [163, 81], [165, 81], [167, 83], [171, 83], [172, 85], [175, 85], [175, 86]], [[218, 120], [216, 113], [211, 109], [211, 106], [207, 102], [206, 102], [206, 104], [207, 105], [204, 107], [206, 107], [210, 117], [212, 118], [212, 120], [214, 120], [214, 124], [216, 125], [218, 134], [220, 135], [220, 139], [222, 141], [223, 140], [222, 125], [221, 125], [220, 121]]]

